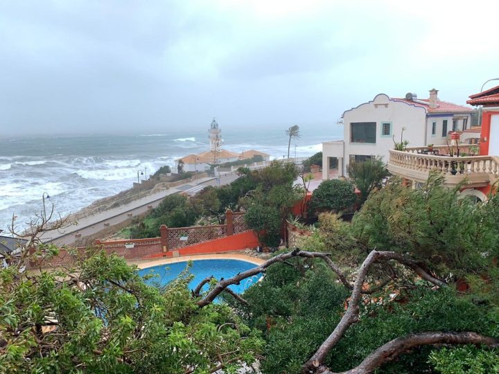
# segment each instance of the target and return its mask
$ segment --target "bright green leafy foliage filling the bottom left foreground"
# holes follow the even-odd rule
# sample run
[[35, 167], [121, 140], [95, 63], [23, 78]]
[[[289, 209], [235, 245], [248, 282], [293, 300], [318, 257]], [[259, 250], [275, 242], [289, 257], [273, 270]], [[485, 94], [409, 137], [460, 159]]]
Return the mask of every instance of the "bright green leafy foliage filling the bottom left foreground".
[[184, 272], [147, 285], [117, 256], [96, 253], [78, 269], [0, 269], [2, 373], [227, 373], [251, 365], [258, 334], [226, 305], [199, 309]]

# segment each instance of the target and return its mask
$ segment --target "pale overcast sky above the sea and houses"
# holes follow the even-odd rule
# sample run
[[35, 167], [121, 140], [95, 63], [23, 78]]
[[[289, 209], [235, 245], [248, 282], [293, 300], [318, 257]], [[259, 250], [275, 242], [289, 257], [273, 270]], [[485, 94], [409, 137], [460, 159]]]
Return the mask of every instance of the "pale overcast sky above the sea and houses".
[[497, 4], [0, 0], [0, 136], [335, 124], [433, 87], [464, 104], [499, 78]]

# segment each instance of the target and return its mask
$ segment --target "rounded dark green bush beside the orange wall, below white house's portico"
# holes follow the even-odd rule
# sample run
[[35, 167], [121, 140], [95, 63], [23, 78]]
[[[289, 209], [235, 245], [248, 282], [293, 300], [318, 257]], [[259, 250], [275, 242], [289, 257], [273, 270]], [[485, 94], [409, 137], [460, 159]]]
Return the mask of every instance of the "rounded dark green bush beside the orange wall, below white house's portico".
[[310, 211], [320, 213], [324, 211], [351, 211], [357, 195], [355, 188], [349, 181], [330, 179], [319, 184], [310, 199]]

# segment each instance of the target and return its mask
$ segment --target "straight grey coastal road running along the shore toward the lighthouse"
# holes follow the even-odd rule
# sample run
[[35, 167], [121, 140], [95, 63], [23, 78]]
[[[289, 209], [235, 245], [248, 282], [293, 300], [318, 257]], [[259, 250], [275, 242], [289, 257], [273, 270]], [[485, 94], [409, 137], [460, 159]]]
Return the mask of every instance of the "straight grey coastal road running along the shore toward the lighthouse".
[[[159, 205], [164, 197], [171, 195], [173, 193], [185, 192], [189, 195], [195, 195], [204, 186], [220, 186], [229, 184], [238, 178], [235, 173], [227, 173], [220, 176], [220, 183], [218, 179], [213, 177], [207, 177], [198, 179], [195, 181], [188, 182], [186, 184], [181, 184], [175, 188], [170, 188], [168, 190], [162, 190], [157, 193], [142, 197], [140, 199], [134, 200], [128, 204], [123, 204], [116, 208], [111, 208], [106, 211], [96, 213], [94, 215], [88, 215], [87, 217], [82, 217], [78, 220], [78, 225], [69, 226], [60, 231], [51, 231], [47, 233], [46, 237], [42, 238], [45, 242], [53, 242], [54, 244], [73, 244], [78, 238], [85, 238], [90, 235], [94, 235], [108, 226], [114, 226], [120, 224], [125, 220], [129, 220], [131, 217], [141, 215], [150, 211], [150, 209], [155, 208]], [[50, 236], [49, 236], [50, 235]], [[81, 235], [76, 237], [76, 235]]]

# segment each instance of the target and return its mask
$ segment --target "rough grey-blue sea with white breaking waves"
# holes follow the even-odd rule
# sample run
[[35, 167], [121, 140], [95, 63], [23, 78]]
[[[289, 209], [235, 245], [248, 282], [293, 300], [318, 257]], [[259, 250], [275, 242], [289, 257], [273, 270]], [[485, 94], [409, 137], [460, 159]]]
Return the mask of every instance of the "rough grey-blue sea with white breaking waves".
[[[323, 141], [342, 139], [335, 124], [301, 128], [291, 141], [290, 157], [308, 157]], [[255, 149], [271, 159], [287, 157], [288, 137], [282, 129], [227, 130], [222, 148]], [[175, 159], [209, 150], [208, 130], [161, 134], [35, 136], [0, 138], [0, 229], [28, 226], [42, 210], [42, 195], [61, 216], [75, 213], [103, 197], [132, 188]]]

